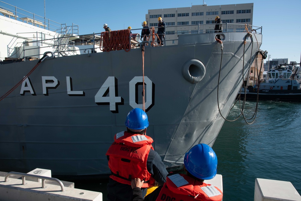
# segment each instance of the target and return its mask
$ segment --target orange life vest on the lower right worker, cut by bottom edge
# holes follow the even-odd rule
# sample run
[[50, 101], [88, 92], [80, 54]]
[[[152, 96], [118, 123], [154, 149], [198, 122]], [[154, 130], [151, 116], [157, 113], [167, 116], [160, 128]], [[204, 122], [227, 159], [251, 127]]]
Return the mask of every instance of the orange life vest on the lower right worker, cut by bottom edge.
[[166, 177], [156, 201], [220, 201], [223, 193], [217, 187], [199, 182], [185, 174], [173, 174]]

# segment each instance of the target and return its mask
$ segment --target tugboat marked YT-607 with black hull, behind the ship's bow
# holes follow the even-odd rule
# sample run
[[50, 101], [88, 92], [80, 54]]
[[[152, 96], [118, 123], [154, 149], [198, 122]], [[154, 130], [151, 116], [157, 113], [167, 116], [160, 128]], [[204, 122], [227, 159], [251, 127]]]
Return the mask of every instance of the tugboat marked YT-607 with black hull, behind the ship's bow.
[[[277, 66], [267, 72], [268, 80], [260, 80], [260, 83], [248, 86], [246, 92], [242, 88], [240, 98], [258, 100], [283, 100], [301, 101], [301, 89], [298, 80], [295, 80], [293, 71], [288, 66]], [[258, 90], [258, 91], [257, 91]]]

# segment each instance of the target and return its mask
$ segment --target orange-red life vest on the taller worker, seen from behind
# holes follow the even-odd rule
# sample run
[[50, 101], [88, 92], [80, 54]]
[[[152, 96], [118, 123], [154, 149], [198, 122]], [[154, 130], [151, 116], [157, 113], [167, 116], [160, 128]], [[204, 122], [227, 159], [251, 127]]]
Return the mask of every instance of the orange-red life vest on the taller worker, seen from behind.
[[122, 184], [131, 185], [131, 180], [144, 180], [143, 188], [154, 186], [155, 180], [147, 171], [149, 150], [154, 149], [151, 137], [126, 131], [117, 133], [108, 149], [110, 177]]

